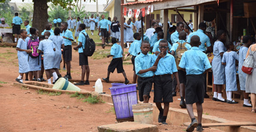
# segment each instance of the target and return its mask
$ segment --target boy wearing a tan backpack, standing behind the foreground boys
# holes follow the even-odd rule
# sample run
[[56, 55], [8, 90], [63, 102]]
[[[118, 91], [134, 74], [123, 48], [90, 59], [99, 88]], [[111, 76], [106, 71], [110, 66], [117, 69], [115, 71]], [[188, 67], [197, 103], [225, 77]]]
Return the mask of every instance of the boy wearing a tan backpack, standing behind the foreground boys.
[[179, 41], [177, 43], [174, 43], [171, 47], [171, 55], [175, 56], [175, 61], [178, 69], [179, 74], [179, 81], [180, 81], [180, 107], [186, 108], [186, 104], [184, 101], [185, 97], [185, 84], [186, 84], [186, 71], [180, 69], [179, 63], [180, 59], [182, 58], [182, 55], [185, 51], [191, 49], [191, 45], [186, 43], [186, 32], [182, 31], [179, 33]]

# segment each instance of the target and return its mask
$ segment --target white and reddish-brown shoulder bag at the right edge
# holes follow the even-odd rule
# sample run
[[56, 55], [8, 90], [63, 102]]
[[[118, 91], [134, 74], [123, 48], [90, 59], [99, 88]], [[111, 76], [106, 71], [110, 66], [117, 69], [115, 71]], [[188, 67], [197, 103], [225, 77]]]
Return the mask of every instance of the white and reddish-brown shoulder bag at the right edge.
[[254, 69], [254, 53], [256, 51], [254, 51], [252, 53], [251, 51], [251, 47], [249, 50], [249, 56], [245, 59], [245, 61], [243, 62], [243, 66], [242, 66], [242, 71], [246, 74], [251, 74], [252, 70]]

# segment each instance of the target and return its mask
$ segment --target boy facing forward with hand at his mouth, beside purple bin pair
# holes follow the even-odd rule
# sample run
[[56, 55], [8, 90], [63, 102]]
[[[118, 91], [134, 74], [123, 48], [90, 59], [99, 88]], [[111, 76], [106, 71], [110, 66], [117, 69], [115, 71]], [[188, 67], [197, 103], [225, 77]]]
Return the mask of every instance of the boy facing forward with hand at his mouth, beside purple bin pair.
[[[173, 102], [172, 95], [172, 85], [173, 80], [171, 75], [173, 74], [177, 81], [178, 88], [180, 87], [178, 71], [175, 63], [175, 59], [171, 54], [167, 54], [168, 41], [161, 40], [159, 44], [160, 54], [163, 54], [163, 57], [158, 62], [157, 70], [155, 71], [154, 76], [154, 102], [157, 105], [158, 110], [160, 111], [158, 115], [158, 123], [166, 123], [167, 114], [169, 111], [169, 104]], [[160, 56], [158, 54], [158, 56]], [[156, 55], [152, 57], [152, 63], [157, 62]], [[164, 103], [164, 109], [162, 108], [161, 103]]]

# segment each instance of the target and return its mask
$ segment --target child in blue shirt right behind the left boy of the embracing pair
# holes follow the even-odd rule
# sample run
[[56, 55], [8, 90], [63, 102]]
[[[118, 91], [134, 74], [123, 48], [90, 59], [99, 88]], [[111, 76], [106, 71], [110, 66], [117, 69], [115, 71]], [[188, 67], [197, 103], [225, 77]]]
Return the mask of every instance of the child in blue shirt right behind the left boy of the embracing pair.
[[137, 75], [135, 72], [135, 57], [138, 56], [138, 54], [141, 52], [141, 34], [135, 33], [133, 34], [133, 37], [135, 40], [130, 45], [129, 53], [128, 55], [132, 55], [132, 64], [133, 64], [133, 83], [136, 83]]

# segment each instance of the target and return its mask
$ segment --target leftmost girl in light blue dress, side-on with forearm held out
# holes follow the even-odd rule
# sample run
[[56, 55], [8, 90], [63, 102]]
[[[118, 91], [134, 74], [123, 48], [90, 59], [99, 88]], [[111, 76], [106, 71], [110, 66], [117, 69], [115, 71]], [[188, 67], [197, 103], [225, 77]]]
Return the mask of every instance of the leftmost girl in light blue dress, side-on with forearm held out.
[[25, 41], [25, 38], [27, 37], [27, 31], [26, 30], [20, 30], [21, 38], [18, 39], [18, 43], [16, 46], [16, 50], [18, 51], [18, 78], [15, 79], [15, 81], [19, 83], [23, 83], [23, 75], [24, 73], [29, 72], [29, 62], [27, 62], [27, 53], [31, 53], [32, 50], [27, 49], [27, 43]]

